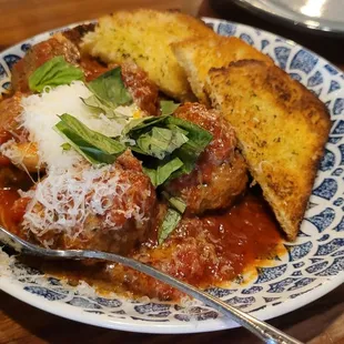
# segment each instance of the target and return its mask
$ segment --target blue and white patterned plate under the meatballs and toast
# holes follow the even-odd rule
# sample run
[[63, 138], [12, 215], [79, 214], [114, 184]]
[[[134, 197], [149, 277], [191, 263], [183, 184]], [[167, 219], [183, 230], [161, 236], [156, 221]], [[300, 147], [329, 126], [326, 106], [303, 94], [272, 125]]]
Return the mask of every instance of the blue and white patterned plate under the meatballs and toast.
[[[204, 21], [220, 34], [239, 37], [267, 53], [292, 78], [317, 94], [331, 113], [332, 131], [297, 241], [285, 243], [286, 253], [275, 257], [273, 264], [256, 267], [256, 277], [249, 284], [209, 290], [259, 318], [272, 318], [318, 299], [344, 282], [344, 74], [315, 53], [275, 34], [222, 20]], [[37, 36], [0, 54], [1, 92], [10, 87], [13, 63], [31, 44], [53, 32]], [[146, 333], [192, 333], [236, 326], [196, 302], [181, 307], [149, 299], [99, 296], [85, 283], [69, 286], [21, 265], [3, 252], [0, 265], [0, 289], [4, 292], [79, 322]]]

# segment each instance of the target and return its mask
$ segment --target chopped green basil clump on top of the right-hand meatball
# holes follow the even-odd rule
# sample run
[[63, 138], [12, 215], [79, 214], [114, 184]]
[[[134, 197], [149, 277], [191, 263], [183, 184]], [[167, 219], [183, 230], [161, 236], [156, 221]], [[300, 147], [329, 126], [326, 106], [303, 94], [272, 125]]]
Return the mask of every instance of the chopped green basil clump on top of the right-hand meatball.
[[[206, 130], [172, 115], [132, 120], [122, 134], [135, 141], [135, 145], [130, 146], [133, 152], [151, 156], [148, 164], [146, 159], [143, 160], [143, 166], [155, 186], [190, 173], [212, 140], [212, 134]], [[169, 161], [172, 161], [171, 164]]]

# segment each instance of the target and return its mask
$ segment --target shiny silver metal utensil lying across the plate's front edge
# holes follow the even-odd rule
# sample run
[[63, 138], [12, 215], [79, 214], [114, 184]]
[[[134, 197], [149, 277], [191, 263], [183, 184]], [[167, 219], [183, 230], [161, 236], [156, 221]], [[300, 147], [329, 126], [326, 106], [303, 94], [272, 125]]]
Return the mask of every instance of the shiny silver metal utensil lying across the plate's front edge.
[[244, 313], [230, 304], [214, 297], [205, 292], [198, 290], [196, 287], [179, 281], [172, 276], [166, 275], [163, 272], [158, 271], [154, 267], [140, 263], [139, 261], [124, 257], [113, 253], [100, 252], [100, 251], [87, 251], [87, 250], [50, 250], [42, 249], [33, 245], [17, 235], [8, 232], [0, 226], [0, 242], [11, 246], [17, 252], [27, 255], [36, 255], [41, 257], [55, 257], [67, 260], [83, 260], [83, 259], [99, 259], [111, 261], [132, 267], [140, 272], [148, 274], [161, 282], [172, 285], [181, 292], [203, 302], [204, 304], [213, 307], [219, 313], [232, 318], [237, 324], [244, 326], [251, 331], [254, 335], [269, 344], [302, 344], [297, 340], [286, 335], [282, 331], [269, 325], [265, 322], [259, 321], [252, 315]]

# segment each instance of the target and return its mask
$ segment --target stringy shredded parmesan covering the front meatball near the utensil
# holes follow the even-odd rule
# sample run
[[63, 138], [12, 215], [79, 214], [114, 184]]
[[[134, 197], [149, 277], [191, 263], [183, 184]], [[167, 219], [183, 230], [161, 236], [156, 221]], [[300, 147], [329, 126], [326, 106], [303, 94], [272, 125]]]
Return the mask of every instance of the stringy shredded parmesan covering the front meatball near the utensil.
[[[49, 175], [22, 196], [31, 199], [22, 225], [38, 237], [49, 231], [77, 239], [83, 231], [97, 227], [118, 230], [113, 219], [123, 215], [139, 224], [144, 217], [140, 206], [130, 206], [129, 182], [121, 179], [115, 165], [94, 168], [89, 164], [73, 169], [50, 169]], [[101, 223], [90, 222], [99, 219]], [[52, 242], [43, 242], [50, 246]]]

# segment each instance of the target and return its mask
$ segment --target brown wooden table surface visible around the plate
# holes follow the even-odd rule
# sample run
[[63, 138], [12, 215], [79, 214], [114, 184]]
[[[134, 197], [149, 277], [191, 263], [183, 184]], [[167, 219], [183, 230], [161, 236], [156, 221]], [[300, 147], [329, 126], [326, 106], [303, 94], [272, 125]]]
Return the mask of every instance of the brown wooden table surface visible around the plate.
[[[175, 9], [192, 0], [0, 0], [0, 51], [39, 32], [71, 22], [98, 18], [121, 8], [150, 7]], [[201, 16], [224, 18], [281, 34], [325, 57], [344, 70], [344, 38], [299, 31], [296, 27], [270, 22], [249, 13], [229, 0], [204, 1]], [[221, 14], [220, 14], [221, 13]], [[344, 314], [344, 285], [295, 312], [274, 318], [270, 323], [300, 341], [308, 342], [328, 324]], [[244, 328], [190, 334], [148, 335], [111, 331], [64, 320], [27, 305], [0, 292], [1, 343], [259, 343]], [[313, 340], [314, 341], [314, 340]], [[315, 343], [315, 341], [312, 343]], [[318, 340], [316, 343], [326, 343]], [[327, 342], [328, 343], [328, 342]], [[338, 340], [335, 343], [344, 343]], [[334, 344], [334, 342], [333, 342]]]

